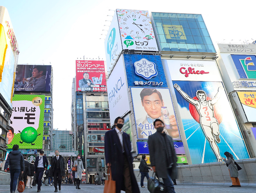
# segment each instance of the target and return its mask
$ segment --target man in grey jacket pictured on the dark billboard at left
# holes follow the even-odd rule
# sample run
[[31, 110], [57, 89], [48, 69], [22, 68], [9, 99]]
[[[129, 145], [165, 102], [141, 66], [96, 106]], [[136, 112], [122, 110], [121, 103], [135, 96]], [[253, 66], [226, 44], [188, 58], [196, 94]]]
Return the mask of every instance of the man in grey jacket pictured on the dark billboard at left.
[[[24, 88], [25, 91], [45, 91], [45, 83], [46, 83], [46, 66], [35, 66], [33, 68], [32, 77], [26, 78]], [[34, 78], [34, 80], [32, 79]]]

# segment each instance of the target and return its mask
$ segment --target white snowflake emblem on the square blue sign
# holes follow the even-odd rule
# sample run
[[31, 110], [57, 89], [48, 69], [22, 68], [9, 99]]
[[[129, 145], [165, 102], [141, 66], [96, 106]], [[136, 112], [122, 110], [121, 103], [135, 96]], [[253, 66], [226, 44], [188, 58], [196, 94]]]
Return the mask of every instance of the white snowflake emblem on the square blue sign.
[[157, 75], [156, 64], [142, 58], [140, 61], [134, 62], [135, 73], [146, 80]]

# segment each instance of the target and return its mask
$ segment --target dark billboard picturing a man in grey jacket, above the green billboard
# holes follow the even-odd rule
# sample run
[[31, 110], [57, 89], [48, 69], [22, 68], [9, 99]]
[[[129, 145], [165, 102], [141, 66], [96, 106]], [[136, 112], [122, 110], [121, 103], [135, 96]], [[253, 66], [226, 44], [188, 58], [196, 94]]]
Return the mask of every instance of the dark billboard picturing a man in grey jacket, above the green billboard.
[[18, 65], [14, 90], [21, 92], [50, 92], [50, 65]]

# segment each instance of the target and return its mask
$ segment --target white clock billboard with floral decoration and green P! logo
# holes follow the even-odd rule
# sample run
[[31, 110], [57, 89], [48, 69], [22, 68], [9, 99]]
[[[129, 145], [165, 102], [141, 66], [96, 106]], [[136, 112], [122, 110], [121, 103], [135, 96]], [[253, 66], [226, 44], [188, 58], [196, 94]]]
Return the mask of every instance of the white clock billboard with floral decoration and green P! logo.
[[158, 51], [148, 11], [117, 9], [123, 49]]

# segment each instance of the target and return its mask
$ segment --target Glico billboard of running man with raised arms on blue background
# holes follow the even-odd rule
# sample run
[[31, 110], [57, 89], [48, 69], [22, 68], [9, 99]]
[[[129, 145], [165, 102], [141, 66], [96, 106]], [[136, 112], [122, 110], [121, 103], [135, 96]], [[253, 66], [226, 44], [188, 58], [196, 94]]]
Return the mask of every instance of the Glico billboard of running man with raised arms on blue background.
[[222, 82], [173, 81], [192, 164], [249, 158]]

